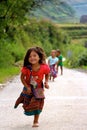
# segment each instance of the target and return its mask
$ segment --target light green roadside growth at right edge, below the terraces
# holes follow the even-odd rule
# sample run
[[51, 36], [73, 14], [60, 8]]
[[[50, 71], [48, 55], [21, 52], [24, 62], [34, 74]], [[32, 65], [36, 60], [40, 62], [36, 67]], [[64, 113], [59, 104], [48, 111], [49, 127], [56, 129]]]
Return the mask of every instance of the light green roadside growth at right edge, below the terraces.
[[87, 49], [84, 47], [85, 39], [73, 40], [71, 44], [66, 46], [65, 55], [66, 61], [64, 66], [68, 68], [87, 68]]

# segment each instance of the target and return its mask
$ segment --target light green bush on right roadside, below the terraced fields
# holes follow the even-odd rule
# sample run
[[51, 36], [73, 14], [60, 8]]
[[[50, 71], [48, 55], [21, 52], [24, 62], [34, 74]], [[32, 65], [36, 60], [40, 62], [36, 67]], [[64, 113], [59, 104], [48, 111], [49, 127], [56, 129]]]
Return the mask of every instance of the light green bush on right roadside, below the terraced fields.
[[87, 51], [86, 51], [86, 48], [82, 44], [67, 45], [65, 51], [66, 51], [65, 65], [71, 68], [76, 68], [81, 65], [86, 65]]

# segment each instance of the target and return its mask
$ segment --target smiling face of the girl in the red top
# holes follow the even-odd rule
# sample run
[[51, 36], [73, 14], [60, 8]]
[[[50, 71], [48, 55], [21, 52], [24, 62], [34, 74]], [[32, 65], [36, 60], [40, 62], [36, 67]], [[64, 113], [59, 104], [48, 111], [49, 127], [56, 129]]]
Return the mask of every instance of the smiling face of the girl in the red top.
[[39, 60], [39, 55], [35, 51], [32, 51], [29, 56], [29, 62], [33, 65], [39, 63]]

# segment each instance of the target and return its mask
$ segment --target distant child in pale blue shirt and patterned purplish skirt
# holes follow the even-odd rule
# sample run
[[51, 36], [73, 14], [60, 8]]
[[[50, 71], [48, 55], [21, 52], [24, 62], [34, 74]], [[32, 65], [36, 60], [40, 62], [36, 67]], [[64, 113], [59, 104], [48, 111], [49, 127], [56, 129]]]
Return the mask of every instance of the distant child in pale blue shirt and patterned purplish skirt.
[[57, 63], [58, 58], [56, 57], [56, 50], [52, 50], [51, 56], [48, 57], [48, 65], [50, 67], [50, 80], [53, 78], [53, 81], [57, 77]]

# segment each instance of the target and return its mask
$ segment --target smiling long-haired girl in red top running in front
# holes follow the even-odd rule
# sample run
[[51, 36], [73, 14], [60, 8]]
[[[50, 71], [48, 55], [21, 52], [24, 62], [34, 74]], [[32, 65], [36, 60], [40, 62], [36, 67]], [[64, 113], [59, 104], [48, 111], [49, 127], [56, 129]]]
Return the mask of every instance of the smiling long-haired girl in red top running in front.
[[[30, 69], [31, 67], [31, 69]], [[37, 84], [37, 88], [43, 88], [42, 82], [45, 76], [44, 86], [45, 88], [49, 88], [48, 79], [49, 79], [50, 68], [47, 64], [45, 64], [45, 54], [42, 48], [40, 47], [32, 47], [30, 48], [24, 58], [24, 65], [21, 70], [21, 81], [24, 85], [23, 91], [17, 99], [14, 108], [20, 103], [23, 103], [24, 114], [27, 116], [34, 115], [34, 121], [32, 127], [39, 126], [39, 115], [43, 109], [44, 98], [43, 99], [35, 99], [30, 82], [31, 82], [31, 73], [33, 77], [33, 83]], [[35, 85], [34, 84], [34, 85]], [[43, 89], [44, 92], [44, 89]], [[34, 99], [33, 105], [34, 108], [30, 110], [30, 104]]]

